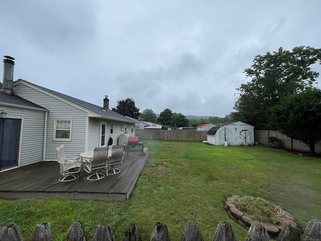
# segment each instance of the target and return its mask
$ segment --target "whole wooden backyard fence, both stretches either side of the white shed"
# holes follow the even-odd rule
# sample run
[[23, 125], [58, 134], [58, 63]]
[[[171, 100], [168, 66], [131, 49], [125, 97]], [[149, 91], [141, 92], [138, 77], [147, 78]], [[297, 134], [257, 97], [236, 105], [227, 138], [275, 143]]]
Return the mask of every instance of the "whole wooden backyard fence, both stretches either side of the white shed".
[[[155, 140], [155, 141], [179, 141], [179, 142], [203, 142], [207, 141], [208, 131], [197, 130], [162, 130], [162, 129], [137, 129], [136, 136], [141, 140]], [[268, 138], [277, 137], [283, 148], [309, 151], [309, 147], [303, 142], [287, 137], [278, 131], [254, 131], [254, 139], [259, 144], [269, 146]], [[315, 145], [315, 152], [321, 153], [321, 142]]]

